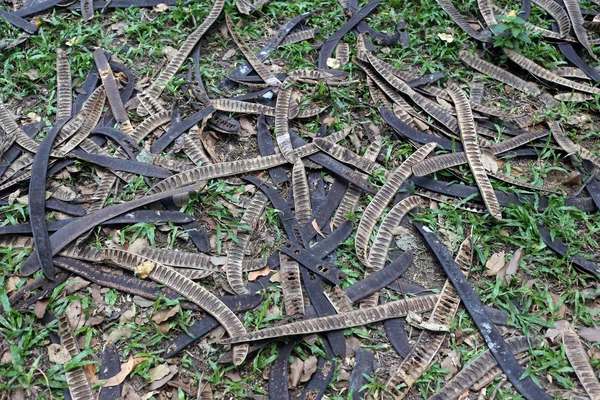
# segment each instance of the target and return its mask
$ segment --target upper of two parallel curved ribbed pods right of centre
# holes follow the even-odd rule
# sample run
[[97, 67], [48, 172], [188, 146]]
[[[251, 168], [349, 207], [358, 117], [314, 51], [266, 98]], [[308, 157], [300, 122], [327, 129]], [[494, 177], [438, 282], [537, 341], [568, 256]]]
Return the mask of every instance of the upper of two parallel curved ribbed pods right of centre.
[[369, 238], [371, 237], [371, 232], [373, 232], [377, 220], [381, 217], [381, 214], [383, 214], [383, 211], [389, 202], [396, 195], [402, 182], [412, 174], [412, 166], [427, 157], [436, 146], [436, 143], [425, 144], [408, 157], [406, 161], [404, 161], [402, 165], [389, 176], [385, 185], [377, 192], [371, 203], [369, 203], [365, 209], [358, 225], [354, 241], [356, 255], [363, 262], [367, 261]]

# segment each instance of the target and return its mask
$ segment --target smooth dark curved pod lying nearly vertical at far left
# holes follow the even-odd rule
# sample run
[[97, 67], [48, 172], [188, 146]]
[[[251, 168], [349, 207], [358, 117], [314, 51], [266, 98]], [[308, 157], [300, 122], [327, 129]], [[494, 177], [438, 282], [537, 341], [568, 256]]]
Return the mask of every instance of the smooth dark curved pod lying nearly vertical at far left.
[[29, 216], [33, 240], [42, 271], [50, 280], [54, 279], [55, 271], [54, 264], [52, 264], [52, 246], [46, 228], [46, 173], [52, 143], [66, 122], [66, 119], [57, 122], [52, 130], [46, 134], [33, 160], [29, 181]]

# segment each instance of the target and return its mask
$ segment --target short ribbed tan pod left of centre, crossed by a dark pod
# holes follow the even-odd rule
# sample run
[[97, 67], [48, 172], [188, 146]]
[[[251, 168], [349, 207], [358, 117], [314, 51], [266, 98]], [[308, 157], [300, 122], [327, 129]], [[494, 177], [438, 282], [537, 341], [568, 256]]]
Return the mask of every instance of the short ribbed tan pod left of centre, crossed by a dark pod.
[[[242, 225], [256, 229], [258, 219], [267, 205], [267, 196], [261, 191], [256, 191], [252, 201], [246, 208], [244, 215], [240, 220]], [[244, 285], [242, 277], [242, 264], [248, 242], [250, 242], [251, 233], [247, 231], [237, 234], [237, 241], [231, 243], [227, 252], [227, 282], [237, 294], [248, 294], [250, 291]]]

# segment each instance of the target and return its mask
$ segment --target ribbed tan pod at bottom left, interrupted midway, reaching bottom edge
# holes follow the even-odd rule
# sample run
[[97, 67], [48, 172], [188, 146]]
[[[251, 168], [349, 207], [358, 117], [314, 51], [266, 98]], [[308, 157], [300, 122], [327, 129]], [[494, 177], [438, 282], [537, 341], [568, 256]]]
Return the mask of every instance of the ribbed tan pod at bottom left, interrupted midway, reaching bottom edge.
[[[79, 354], [79, 347], [73, 334], [73, 329], [69, 323], [66, 313], [62, 313], [56, 317], [58, 320], [58, 336], [60, 337], [61, 345], [67, 349], [71, 358]], [[83, 367], [76, 367], [69, 371], [65, 371], [69, 393], [73, 400], [94, 400], [94, 392], [92, 385], [85, 375]]]

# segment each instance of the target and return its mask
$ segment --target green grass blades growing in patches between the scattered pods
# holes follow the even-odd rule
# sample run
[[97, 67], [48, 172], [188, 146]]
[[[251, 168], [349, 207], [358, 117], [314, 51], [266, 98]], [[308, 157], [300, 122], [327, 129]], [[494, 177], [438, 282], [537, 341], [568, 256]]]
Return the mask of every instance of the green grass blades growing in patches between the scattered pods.
[[[363, 5], [365, 2], [361, 2]], [[499, 2], [506, 10], [518, 10], [518, 4], [513, 2]], [[61, 46], [67, 50], [67, 56], [71, 63], [74, 78], [74, 86], [79, 85], [85, 79], [88, 71], [93, 65], [92, 51], [98, 45], [110, 51], [115, 58], [130, 66], [140, 81], [145, 78], [152, 79], [157, 70], [165, 63], [164, 52], [168, 47], [178, 48], [189, 33], [197, 27], [200, 21], [207, 15], [211, 7], [210, 2], [194, 2], [186, 5], [170, 7], [166, 12], [156, 12], [149, 9], [129, 8], [125, 10], [110, 11], [106, 15], [96, 14], [92, 23], [81, 23], [76, 11], [61, 10], [44, 16], [43, 23], [37, 35], [27, 39], [23, 44], [3, 50], [0, 54], [0, 87], [2, 98], [11, 107], [22, 115], [35, 113], [39, 115], [46, 125], [50, 125], [56, 109], [55, 98], [55, 48]], [[468, 0], [458, 5], [464, 15], [477, 14], [477, 2]], [[297, 15], [316, 11], [306, 19], [306, 24], [318, 27], [320, 32], [316, 42], [322, 42], [331, 34], [336, 32], [343, 24], [345, 17], [337, 0], [316, 1], [273, 1], [262, 7], [254, 15], [240, 15], [233, 1], [228, 1], [225, 11], [228, 12], [245, 41], [252, 49], [259, 49], [266, 41], [272, 31], [276, 30], [278, 24], [296, 17]], [[465, 67], [457, 58], [460, 50], [475, 50], [473, 41], [467, 34], [462, 32], [439, 7], [435, 0], [422, 0], [411, 3], [407, 8], [405, 2], [390, 0], [383, 2], [379, 8], [367, 18], [367, 22], [374, 28], [392, 32], [398, 17], [403, 16], [411, 40], [408, 48], [399, 45], [389, 46], [378, 55], [392, 65], [409, 70], [415, 74], [428, 74], [436, 71], [444, 71], [446, 80], [452, 79], [459, 83], [468, 84], [472, 78], [472, 71]], [[548, 18], [543, 12], [534, 7], [529, 22], [538, 26], [548, 28]], [[240, 52], [237, 52], [229, 61], [222, 59], [227, 49], [233, 46], [232, 41], [222, 37], [218, 28], [224, 24], [222, 20], [216, 24], [217, 29], [212, 29], [202, 40], [201, 50], [201, 73], [204, 78], [209, 94], [213, 97], [225, 96], [216, 89], [217, 83], [223, 78], [226, 71], [234, 65], [243, 61]], [[117, 33], [122, 29], [123, 35]], [[454, 40], [451, 43], [443, 41], [438, 34], [451, 34]], [[6, 38], [8, 43], [14, 42], [20, 33], [6, 22], [0, 21], [0, 37]], [[532, 60], [550, 69], [554, 66], [564, 65], [562, 55], [555, 47], [544, 42], [540, 37], [532, 36], [531, 43], [520, 41], [510, 42], [510, 46], [522, 49], [523, 54]], [[352, 55], [356, 54], [354, 46], [355, 38], [352, 33], [348, 34], [344, 41], [350, 44]], [[383, 49], [382, 49], [383, 50]], [[493, 61], [500, 67], [516, 70], [513, 65], [500, 55], [498, 48], [488, 48], [482, 53], [484, 59]], [[316, 68], [318, 49], [313, 42], [300, 42], [290, 44], [276, 49], [271, 56], [273, 64], [281, 65], [285, 70], [314, 69]], [[586, 54], [582, 54], [586, 61], [590, 61]], [[360, 69], [350, 63], [344, 67], [350, 73], [351, 79], [357, 79]], [[31, 79], [23, 74], [24, 71], [35, 70], [38, 78]], [[516, 71], [519, 73], [518, 71]], [[520, 74], [520, 73], [519, 73]], [[520, 74], [522, 75], [522, 74]], [[183, 78], [176, 78], [168, 86], [168, 96], [181, 99], [179, 85], [184, 82]], [[511, 110], [515, 103], [515, 96], [511, 94], [504, 85], [492, 80], [486, 81], [486, 91], [493, 93], [495, 98], [500, 99], [498, 106], [505, 110]], [[543, 82], [537, 82], [544, 86]], [[445, 85], [445, 81], [439, 83]], [[412, 146], [407, 143], [391, 139], [385, 131], [385, 125], [368, 102], [369, 93], [366, 87], [328, 87], [326, 85], [298, 85], [303, 97], [303, 104], [315, 103], [319, 105], [330, 104], [330, 115], [336, 119], [333, 129], [343, 129], [348, 126], [355, 127], [356, 132], [362, 131], [362, 125], [374, 124], [382, 129], [384, 142], [381, 155], [383, 165], [388, 169], [394, 169], [413, 152]], [[238, 93], [243, 92], [242, 89]], [[535, 101], [532, 98], [519, 98], [522, 101]], [[524, 100], [523, 100], [524, 99]], [[599, 99], [587, 103], [566, 103], [550, 109], [544, 117], [566, 121], [571, 117], [583, 114], [594, 114], [600, 109]], [[189, 112], [189, 106], [183, 106], [184, 114]], [[364, 115], [359, 118], [358, 115]], [[140, 117], [132, 113], [133, 121], [139, 121]], [[304, 121], [303, 128], [312, 133], [319, 127], [318, 121]], [[568, 132], [577, 143], [588, 144], [592, 142], [591, 149], [598, 150], [597, 129], [586, 132], [571, 128]], [[347, 145], [350, 146], [348, 142]], [[562, 171], [559, 155], [551, 149], [544, 149], [540, 158], [542, 162], [531, 163], [523, 166], [513, 161], [508, 161], [508, 169], [524, 168], [530, 169], [532, 180], [539, 184], [546, 179], [550, 173]], [[76, 166], [82, 171], [81, 176], [96, 180], [93, 167], [88, 163], [77, 163]], [[467, 169], [459, 169], [466, 172]], [[559, 172], [560, 172], [559, 171]], [[440, 177], [459, 180], [448, 173], [440, 173]], [[69, 178], [73, 179], [73, 178]], [[381, 174], [371, 176], [370, 181], [380, 187], [384, 180]], [[472, 184], [470, 175], [461, 177], [466, 183]], [[77, 184], [76, 181], [71, 182]], [[494, 181], [498, 190], [506, 192], [521, 192], [522, 190], [511, 185]], [[117, 196], [108, 199], [107, 205], [124, 200], [131, 200], [139, 193], [148, 189], [144, 180], [139, 177], [122, 187]], [[197, 217], [211, 218], [215, 222], [216, 253], [224, 255], [223, 242], [236, 240], [235, 230], [240, 227], [240, 212], [235, 209], [240, 207], [240, 197], [247, 196], [244, 186], [230, 185], [225, 180], [208, 182], [204, 191], [194, 194], [182, 207], [182, 211]], [[561, 305], [566, 306], [567, 318], [571, 319], [576, 326], [594, 326], [598, 320], [598, 310], [590, 306], [589, 299], [582, 296], [582, 289], [589, 286], [589, 277], [576, 271], [564, 258], [557, 256], [549, 250], [541, 241], [535, 228], [535, 223], [543, 222], [552, 235], [567, 243], [573, 254], [580, 252], [586, 256], [597, 253], [600, 220], [596, 215], [582, 213], [576, 209], [565, 207], [564, 201], [557, 196], [550, 196], [551, 201], [547, 210], [539, 212], [534, 206], [512, 206], [504, 210], [504, 219], [501, 222], [492, 221], [487, 215], [469, 214], [461, 210], [443, 204], [439, 209], [427, 209], [414, 213], [414, 219], [422, 221], [435, 230], [446, 230], [455, 233], [460, 239], [473, 230], [476, 245], [474, 266], [471, 273], [471, 281], [476, 284], [476, 291], [484, 303], [498, 307], [509, 314], [508, 327], [518, 329], [526, 334], [541, 334], [546, 327], [561, 316]], [[362, 209], [372, 199], [363, 196], [361, 207], [354, 210], [350, 219], [355, 222], [362, 217]], [[27, 221], [28, 207], [26, 205], [14, 204], [12, 206], [0, 207], [2, 215], [1, 225], [17, 224]], [[268, 255], [273, 247], [285, 240], [281, 235], [278, 211], [267, 207], [263, 216], [266, 225], [273, 226], [275, 235], [274, 243], [261, 244], [262, 254]], [[506, 235], [505, 233], [508, 233]], [[146, 238], [152, 245], [179, 248], [185, 245], [180, 239], [182, 232], [177, 226], [171, 226], [169, 232], [161, 232], [152, 224], [135, 224], [120, 230], [121, 243], [132, 242], [137, 237]], [[348, 278], [343, 286], [348, 286], [358, 280], [364, 274], [364, 267], [358, 262], [354, 254], [353, 235], [337, 251], [338, 263]], [[100, 231], [96, 232], [96, 245], [101, 246], [108, 238]], [[519, 268], [519, 279], [511, 284], [502, 284], [494, 277], [487, 277], [484, 265], [487, 259], [500, 250], [512, 254], [517, 248], [524, 248], [526, 257], [521, 261]], [[456, 249], [452, 249], [456, 250]], [[98, 357], [98, 343], [103, 343], [103, 332], [99, 327], [83, 327], [78, 334], [85, 338], [83, 352], [80, 357], [72, 360], [66, 366], [51, 366], [47, 362], [44, 347], [49, 343], [49, 334], [56, 330], [55, 324], [43, 326], [36, 321], [32, 311], [15, 311], [7, 301], [6, 286], [8, 279], [15, 274], [20, 263], [27, 255], [28, 250], [13, 248], [0, 249], [0, 305], [3, 312], [0, 314], [1, 343], [7, 345], [11, 350], [12, 360], [4, 362], [0, 366], [0, 391], [14, 391], [17, 388], [27, 389], [36, 387], [40, 393], [40, 399], [62, 396], [62, 389], [66, 382], [64, 370], [83, 366], [90, 363], [94, 357]], [[439, 269], [432, 266], [419, 265], [425, 271], [439, 275]], [[429, 268], [429, 269], [427, 269]], [[525, 285], [526, 283], [530, 285]], [[430, 283], [427, 280], [420, 281], [425, 286]], [[25, 284], [22, 279], [17, 286]], [[210, 283], [207, 283], [210, 284]], [[53, 312], [64, 311], [72, 302], [80, 301], [87, 316], [95, 312], [99, 305], [89, 296], [90, 289], [83, 289], [76, 294], [65, 296], [60, 293], [61, 285], [57, 288], [50, 299], [50, 309]], [[386, 296], [394, 299], [394, 293], [386, 293]], [[256, 310], [244, 315], [244, 325], [248, 330], [262, 329], [279, 321], [284, 315], [283, 299], [279, 290], [268, 289], [263, 293], [264, 301]], [[558, 300], [557, 300], [558, 299]], [[121, 327], [131, 328], [132, 335], [120, 340], [119, 347], [121, 359], [129, 355], [145, 357], [146, 360], [139, 364], [133, 379], [145, 383], [148, 381], [150, 368], [163, 364], [162, 359], [164, 344], [175, 337], [175, 334], [185, 331], [186, 327], [196, 320], [197, 314], [190, 311], [181, 311], [169, 320], [170, 330], [162, 333], [151, 322], [152, 313], [164, 308], [172, 307], [176, 301], [166, 299], [157, 300], [153, 307], [144, 309], [131, 304], [131, 299], [115, 290], [107, 290], [102, 293], [102, 300], [111, 313], [119, 313], [131, 308], [136, 317], [129, 322], [120, 323], [115, 321], [107, 329], [109, 332]], [[519, 304], [519, 308], [515, 306]], [[106, 311], [105, 310], [105, 311]], [[138, 319], [139, 318], [139, 319]], [[375, 351], [390, 356], [391, 351], [385, 333], [378, 325], [370, 327], [368, 337], [364, 330], [347, 330], [347, 336], [356, 334], [362, 345]], [[482, 340], [478, 337], [477, 330], [472, 324], [465, 311], [459, 311], [452, 324], [452, 333], [449, 340], [444, 344], [444, 350], [457, 350], [463, 363], [469, 362], [484, 348]], [[471, 346], [465, 341], [465, 337], [472, 338]], [[591, 346], [597, 349], [598, 345]], [[2, 347], [5, 349], [5, 347]], [[386, 350], [387, 349], [387, 350]], [[181, 374], [191, 382], [197, 382], [200, 377], [210, 382], [213, 389], [224, 396], [239, 398], [246, 395], [265, 395], [266, 383], [262, 381], [261, 375], [264, 370], [275, 361], [278, 350], [275, 344], [271, 344], [254, 355], [250, 356], [244, 367], [240, 370], [241, 380], [232, 379], [231, 366], [217, 364], [222, 354], [222, 348], [212, 344], [203, 344], [202, 350], [195, 348], [184, 353], [178, 363]], [[321, 341], [313, 345], [301, 343], [296, 346], [294, 356], [305, 359], [310, 355], [325, 355]], [[560, 347], [548, 345], [530, 351], [533, 357], [529, 364], [532, 376], [551, 377], [554, 387], [569, 389], [576, 382], [576, 377], [566, 361], [564, 351]], [[0, 355], [1, 356], [1, 355]], [[419, 379], [416, 384], [416, 393], [428, 397], [444, 384], [444, 371], [439, 361], [441, 357], [434, 360], [433, 366]], [[99, 363], [93, 361], [98, 371]], [[600, 367], [600, 361], [592, 358], [592, 365]], [[41, 371], [44, 371], [42, 374]], [[371, 378], [366, 385], [366, 390], [371, 394], [382, 393], [383, 377]], [[496, 383], [498, 380], [496, 381]], [[488, 389], [488, 394], [493, 386]], [[330, 399], [341, 400], [347, 398], [347, 393], [340, 389], [339, 384], [332, 384], [327, 392]], [[187, 399], [194, 396], [178, 391], [179, 398]], [[510, 385], [504, 386], [498, 393], [501, 399], [514, 398], [515, 394]], [[155, 397], [156, 398], [156, 397]]]

